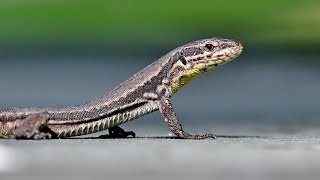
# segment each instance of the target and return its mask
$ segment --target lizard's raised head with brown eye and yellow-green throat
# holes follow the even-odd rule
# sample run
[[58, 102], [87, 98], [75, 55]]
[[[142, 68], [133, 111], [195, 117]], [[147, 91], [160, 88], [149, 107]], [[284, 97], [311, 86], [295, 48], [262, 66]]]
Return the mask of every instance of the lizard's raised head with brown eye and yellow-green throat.
[[171, 71], [172, 93], [199, 75], [236, 58], [242, 49], [240, 42], [222, 38], [204, 39], [182, 46]]

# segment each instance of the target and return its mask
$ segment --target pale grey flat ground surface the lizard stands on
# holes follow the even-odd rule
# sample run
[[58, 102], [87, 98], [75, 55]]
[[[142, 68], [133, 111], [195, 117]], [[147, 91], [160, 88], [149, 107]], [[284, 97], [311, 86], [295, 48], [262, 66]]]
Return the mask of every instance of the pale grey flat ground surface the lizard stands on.
[[318, 179], [319, 159], [307, 137], [0, 141], [4, 179]]

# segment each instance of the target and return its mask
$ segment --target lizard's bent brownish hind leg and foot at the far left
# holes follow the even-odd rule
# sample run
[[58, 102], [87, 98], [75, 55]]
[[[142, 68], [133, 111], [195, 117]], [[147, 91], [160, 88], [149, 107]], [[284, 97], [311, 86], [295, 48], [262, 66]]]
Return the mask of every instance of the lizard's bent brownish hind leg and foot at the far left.
[[48, 113], [36, 113], [25, 119], [17, 120], [11, 138], [15, 139], [51, 139], [52, 132], [46, 131], [49, 121]]

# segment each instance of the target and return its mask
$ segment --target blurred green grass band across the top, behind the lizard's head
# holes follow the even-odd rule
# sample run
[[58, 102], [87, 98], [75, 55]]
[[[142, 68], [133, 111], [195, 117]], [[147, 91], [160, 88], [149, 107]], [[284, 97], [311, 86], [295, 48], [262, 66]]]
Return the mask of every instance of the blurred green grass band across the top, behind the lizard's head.
[[[2, 0], [0, 47], [166, 48], [213, 36], [318, 52], [320, 1]], [[51, 46], [50, 46], [51, 45]]]

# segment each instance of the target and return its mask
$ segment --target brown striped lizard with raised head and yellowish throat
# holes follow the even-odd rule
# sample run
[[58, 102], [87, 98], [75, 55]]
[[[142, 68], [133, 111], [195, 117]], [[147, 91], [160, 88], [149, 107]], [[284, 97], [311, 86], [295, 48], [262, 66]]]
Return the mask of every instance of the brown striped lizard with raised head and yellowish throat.
[[120, 124], [160, 111], [168, 128], [181, 139], [216, 138], [214, 134], [185, 132], [171, 97], [196, 77], [241, 54], [239, 41], [208, 38], [173, 49], [99, 98], [81, 105], [0, 110], [0, 137], [53, 139], [109, 130], [108, 138], [135, 137]]

